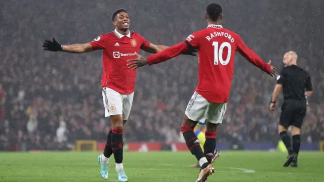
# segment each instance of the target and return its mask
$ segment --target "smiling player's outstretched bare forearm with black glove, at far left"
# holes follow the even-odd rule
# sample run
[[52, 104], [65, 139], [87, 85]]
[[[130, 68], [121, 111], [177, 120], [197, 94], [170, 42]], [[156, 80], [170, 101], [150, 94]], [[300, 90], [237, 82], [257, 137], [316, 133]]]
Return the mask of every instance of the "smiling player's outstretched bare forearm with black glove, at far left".
[[71, 45], [61, 45], [55, 40], [54, 37], [53, 37], [53, 41], [45, 40], [45, 42], [43, 43], [43, 48], [45, 51], [52, 51], [52, 52], [62, 51], [66, 53], [77, 53], [77, 54], [94, 51], [91, 43], [76, 43]]

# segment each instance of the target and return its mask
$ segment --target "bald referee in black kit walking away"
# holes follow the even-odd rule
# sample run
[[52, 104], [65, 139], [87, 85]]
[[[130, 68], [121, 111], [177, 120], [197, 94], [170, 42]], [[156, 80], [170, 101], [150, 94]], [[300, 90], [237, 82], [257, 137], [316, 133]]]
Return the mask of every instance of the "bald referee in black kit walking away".
[[[275, 101], [282, 87], [284, 104], [281, 106], [278, 133], [284, 142], [289, 156], [284, 167], [297, 167], [297, 156], [300, 149], [300, 128], [306, 115], [307, 98], [313, 93], [312, 83], [307, 71], [297, 66], [297, 54], [288, 52], [284, 56], [285, 67], [277, 76], [277, 84], [273, 90], [270, 109], [274, 111]], [[292, 126], [293, 144], [287, 133]]]

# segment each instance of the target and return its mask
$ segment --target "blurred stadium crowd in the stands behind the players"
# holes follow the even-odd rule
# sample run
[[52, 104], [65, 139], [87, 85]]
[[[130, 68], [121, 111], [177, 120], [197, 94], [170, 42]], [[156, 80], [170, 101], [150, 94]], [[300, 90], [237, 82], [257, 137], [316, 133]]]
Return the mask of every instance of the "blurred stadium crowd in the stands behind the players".
[[[294, 50], [310, 72], [314, 95], [302, 128], [305, 142], [324, 140], [324, 49], [322, 1], [220, 1], [224, 26], [241, 35], [278, 71], [282, 56]], [[6, 1], [0, 6], [0, 150], [66, 149], [79, 139], [105, 141], [109, 119], [101, 95], [101, 52], [46, 53], [42, 42], [55, 36], [65, 43], [87, 42], [113, 30], [110, 14], [126, 8], [131, 30], [155, 44], [173, 45], [206, 27], [206, 2]], [[14, 5], [14, 6], [13, 6]], [[299, 11], [296, 11], [298, 9]], [[13, 13], [14, 12], [14, 13]], [[253, 13], [247, 13], [253, 12]], [[229, 106], [218, 141], [232, 133], [244, 141], [277, 139], [280, 103], [269, 110], [275, 79], [237, 56]], [[177, 142], [186, 105], [197, 84], [197, 58], [138, 70], [126, 141]], [[282, 96], [280, 96], [282, 99]]]

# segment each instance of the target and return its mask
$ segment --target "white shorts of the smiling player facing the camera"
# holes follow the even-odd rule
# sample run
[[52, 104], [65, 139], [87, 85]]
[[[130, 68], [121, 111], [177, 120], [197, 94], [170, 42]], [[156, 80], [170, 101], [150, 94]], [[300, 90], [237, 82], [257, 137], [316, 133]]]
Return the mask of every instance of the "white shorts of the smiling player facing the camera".
[[123, 114], [123, 120], [128, 119], [132, 109], [134, 93], [120, 94], [111, 88], [103, 87], [102, 98], [105, 117]]

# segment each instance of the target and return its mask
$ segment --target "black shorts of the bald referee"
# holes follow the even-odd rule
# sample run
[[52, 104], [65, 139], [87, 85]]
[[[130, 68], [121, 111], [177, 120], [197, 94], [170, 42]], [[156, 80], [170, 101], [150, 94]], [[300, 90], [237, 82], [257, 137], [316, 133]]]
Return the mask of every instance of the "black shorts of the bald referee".
[[301, 128], [305, 115], [306, 101], [284, 101], [284, 104], [281, 106], [279, 124], [285, 128], [292, 125]]

